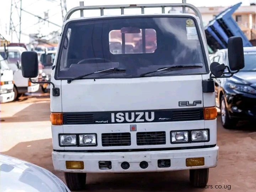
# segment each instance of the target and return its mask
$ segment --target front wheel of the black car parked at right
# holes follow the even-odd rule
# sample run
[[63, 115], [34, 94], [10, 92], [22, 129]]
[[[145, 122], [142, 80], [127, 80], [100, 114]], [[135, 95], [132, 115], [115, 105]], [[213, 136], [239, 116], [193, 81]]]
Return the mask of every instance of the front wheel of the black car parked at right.
[[221, 114], [222, 126], [226, 129], [232, 129], [236, 126], [237, 121], [229, 117], [228, 110], [226, 109], [224, 97], [225, 96], [223, 95], [222, 98], [220, 99], [220, 114]]

